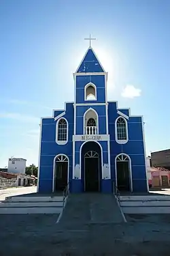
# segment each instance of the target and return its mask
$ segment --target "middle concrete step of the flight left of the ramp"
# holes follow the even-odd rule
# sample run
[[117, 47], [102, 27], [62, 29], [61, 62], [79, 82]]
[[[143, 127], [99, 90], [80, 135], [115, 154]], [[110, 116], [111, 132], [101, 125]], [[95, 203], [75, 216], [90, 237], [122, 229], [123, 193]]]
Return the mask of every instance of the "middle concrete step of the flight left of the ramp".
[[44, 202], [9, 202], [5, 201], [4, 203], [0, 203], [0, 210], [1, 208], [15, 208], [15, 207], [63, 207], [63, 202], [61, 201], [44, 201]]

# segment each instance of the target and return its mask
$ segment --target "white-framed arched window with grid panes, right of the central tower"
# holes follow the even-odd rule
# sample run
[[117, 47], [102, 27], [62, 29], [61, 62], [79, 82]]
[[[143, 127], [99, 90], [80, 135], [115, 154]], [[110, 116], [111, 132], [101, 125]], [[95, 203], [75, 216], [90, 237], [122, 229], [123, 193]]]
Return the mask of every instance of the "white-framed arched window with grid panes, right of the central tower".
[[118, 117], [116, 121], [116, 141], [118, 143], [126, 143], [128, 141], [127, 122], [124, 117]]

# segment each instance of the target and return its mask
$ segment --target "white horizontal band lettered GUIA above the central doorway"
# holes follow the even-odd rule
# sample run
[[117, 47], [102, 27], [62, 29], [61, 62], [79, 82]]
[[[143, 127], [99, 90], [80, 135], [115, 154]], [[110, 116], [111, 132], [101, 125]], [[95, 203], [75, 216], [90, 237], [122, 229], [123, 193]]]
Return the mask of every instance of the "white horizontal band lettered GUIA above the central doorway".
[[109, 141], [109, 134], [73, 135], [73, 141]]

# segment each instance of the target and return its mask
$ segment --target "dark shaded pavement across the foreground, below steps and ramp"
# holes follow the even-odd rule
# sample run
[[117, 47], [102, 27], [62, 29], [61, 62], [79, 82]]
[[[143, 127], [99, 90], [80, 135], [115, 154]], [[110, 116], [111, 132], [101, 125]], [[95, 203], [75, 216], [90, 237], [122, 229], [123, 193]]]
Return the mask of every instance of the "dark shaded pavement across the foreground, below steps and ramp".
[[69, 225], [64, 218], [56, 224], [57, 214], [1, 215], [0, 255], [170, 255], [168, 214], [126, 215], [128, 223], [84, 223], [84, 216], [90, 216], [84, 211], [76, 216], [76, 226], [72, 218], [67, 219]]

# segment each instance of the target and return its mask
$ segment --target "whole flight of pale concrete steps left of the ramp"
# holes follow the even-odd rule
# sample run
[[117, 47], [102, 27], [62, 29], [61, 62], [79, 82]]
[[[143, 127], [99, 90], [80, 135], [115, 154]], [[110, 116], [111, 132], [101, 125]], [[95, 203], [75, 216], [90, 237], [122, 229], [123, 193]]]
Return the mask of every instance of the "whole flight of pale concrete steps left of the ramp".
[[7, 197], [0, 203], [0, 214], [60, 214], [67, 201], [63, 196]]

